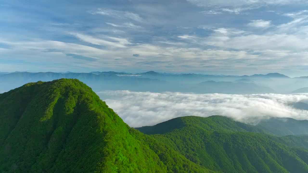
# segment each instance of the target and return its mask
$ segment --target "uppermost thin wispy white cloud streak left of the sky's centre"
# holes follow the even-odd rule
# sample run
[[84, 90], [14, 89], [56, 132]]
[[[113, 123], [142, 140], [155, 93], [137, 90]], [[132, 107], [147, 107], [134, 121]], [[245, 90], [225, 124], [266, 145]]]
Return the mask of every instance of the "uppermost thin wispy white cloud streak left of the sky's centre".
[[135, 20], [137, 22], [143, 22], [143, 19], [135, 13], [129, 12], [129, 11], [118, 11], [118, 10], [111, 10], [111, 9], [101, 9], [98, 8], [95, 11], [90, 11], [91, 14], [101, 14], [101, 15], [107, 15], [113, 18], [128, 18], [131, 20]]

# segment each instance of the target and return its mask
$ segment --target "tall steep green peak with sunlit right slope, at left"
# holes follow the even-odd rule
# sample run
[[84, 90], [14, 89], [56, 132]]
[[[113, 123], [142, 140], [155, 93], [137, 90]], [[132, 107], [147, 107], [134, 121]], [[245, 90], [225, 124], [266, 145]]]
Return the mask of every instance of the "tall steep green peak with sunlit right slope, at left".
[[0, 94], [0, 112], [3, 172], [212, 172], [128, 127], [77, 79]]

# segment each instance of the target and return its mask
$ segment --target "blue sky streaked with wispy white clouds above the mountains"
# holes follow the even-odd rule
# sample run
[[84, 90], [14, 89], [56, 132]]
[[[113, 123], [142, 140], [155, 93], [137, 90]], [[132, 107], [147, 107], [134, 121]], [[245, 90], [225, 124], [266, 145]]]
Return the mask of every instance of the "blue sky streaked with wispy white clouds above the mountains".
[[308, 75], [303, 0], [0, 0], [0, 71]]

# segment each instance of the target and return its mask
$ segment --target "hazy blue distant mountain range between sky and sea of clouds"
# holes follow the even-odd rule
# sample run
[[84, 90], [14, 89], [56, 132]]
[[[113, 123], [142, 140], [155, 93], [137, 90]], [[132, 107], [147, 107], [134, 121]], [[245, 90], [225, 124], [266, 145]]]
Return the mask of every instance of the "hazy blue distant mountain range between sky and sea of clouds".
[[59, 73], [0, 72], [0, 91], [9, 91], [27, 82], [51, 81], [59, 78], [77, 78], [91, 86], [95, 91], [131, 90], [224, 94], [288, 94], [296, 90], [297, 86], [308, 86], [308, 80], [305, 77], [290, 78], [279, 73], [235, 76], [193, 73], [172, 74], [155, 71], [144, 73], [115, 71], [93, 71], [91, 73], [73, 73], [70, 71]]

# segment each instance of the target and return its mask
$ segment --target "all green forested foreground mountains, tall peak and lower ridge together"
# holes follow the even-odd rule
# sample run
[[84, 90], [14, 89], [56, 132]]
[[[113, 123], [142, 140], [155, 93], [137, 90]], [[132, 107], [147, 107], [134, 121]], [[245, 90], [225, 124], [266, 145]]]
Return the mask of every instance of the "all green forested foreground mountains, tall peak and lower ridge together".
[[222, 116], [134, 129], [77, 79], [0, 94], [0, 112], [1, 173], [308, 172], [307, 136]]

